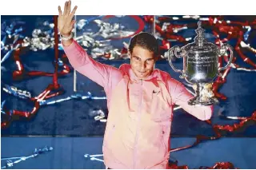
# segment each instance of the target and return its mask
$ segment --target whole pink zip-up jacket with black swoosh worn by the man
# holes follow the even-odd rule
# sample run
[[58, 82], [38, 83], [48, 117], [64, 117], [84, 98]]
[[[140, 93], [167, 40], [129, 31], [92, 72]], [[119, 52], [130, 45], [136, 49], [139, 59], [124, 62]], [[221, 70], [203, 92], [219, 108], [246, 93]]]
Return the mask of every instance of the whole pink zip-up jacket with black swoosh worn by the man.
[[94, 61], [75, 41], [64, 51], [74, 69], [106, 92], [109, 116], [102, 147], [106, 167], [168, 168], [174, 104], [202, 121], [213, 113], [212, 106], [188, 105], [193, 96], [169, 73], [154, 69], [141, 81], [130, 65], [117, 69]]

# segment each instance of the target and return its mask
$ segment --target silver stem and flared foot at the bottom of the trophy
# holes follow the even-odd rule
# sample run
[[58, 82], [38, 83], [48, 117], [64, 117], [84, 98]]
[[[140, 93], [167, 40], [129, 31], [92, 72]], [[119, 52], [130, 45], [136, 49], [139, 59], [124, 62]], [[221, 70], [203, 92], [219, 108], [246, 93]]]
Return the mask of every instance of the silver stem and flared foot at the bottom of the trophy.
[[203, 89], [204, 85], [202, 83], [197, 83], [195, 97], [188, 101], [189, 105], [216, 105], [218, 103], [218, 100], [214, 97], [203, 96]]

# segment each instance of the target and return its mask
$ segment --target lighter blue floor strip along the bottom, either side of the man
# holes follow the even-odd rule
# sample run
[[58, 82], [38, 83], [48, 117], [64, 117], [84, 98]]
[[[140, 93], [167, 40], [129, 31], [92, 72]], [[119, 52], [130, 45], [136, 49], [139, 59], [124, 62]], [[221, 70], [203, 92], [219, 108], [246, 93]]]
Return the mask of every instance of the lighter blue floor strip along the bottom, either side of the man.
[[[194, 138], [174, 137], [172, 148], [192, 144]], [[189, 168], [212, 167], [217, 162], [231, 162], [235, 168], [256, 168], [256, 138], [222, 138], [207, 141], [198, 146], [170, 153], [170, 161], [178, 160], [178, 165]], [[30, 156], [34, 148], [53, 147], [51, 152], [22, 161], [14, 168], [38, 169], [103, 169], [103, 162], [85, 158], [85, 154], [102, 154], [102, 137], [2, 137], [3, 157]], [[102, 156], [96, 156], [102, 159]], [[4, 166], [6, 161], [2, 161]]]

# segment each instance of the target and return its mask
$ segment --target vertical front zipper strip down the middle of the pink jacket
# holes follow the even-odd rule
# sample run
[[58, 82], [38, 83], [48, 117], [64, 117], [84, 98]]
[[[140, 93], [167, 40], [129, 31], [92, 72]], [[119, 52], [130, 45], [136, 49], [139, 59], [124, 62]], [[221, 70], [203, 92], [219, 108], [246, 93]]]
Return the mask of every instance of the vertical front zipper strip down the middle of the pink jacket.
[[[138, 113], [139, 113], [139, 116], [138, 116], [138, 122], [140, 122], [140, 118], [141, 118], [141, 114], [142, 114], [142, 100], [143, 100], [143, 97], [142, 97], [142, 81], [143, 80], [140, 80], [141, 81], [141, 90], [140, 90], [140, 99], [139, 99], [139, 105], [138, 105]], [[135, 142], [134, 142], [134, 159], [133, 159], [133, 168], [135, 168], [135, 165], [136, 165], [136, 153], [137, 153], [137, 141], [138, 141], [138, 125], [139, 123], [137, 122], [137, 129], [136, 129], [136, 136], [135, 136]]]

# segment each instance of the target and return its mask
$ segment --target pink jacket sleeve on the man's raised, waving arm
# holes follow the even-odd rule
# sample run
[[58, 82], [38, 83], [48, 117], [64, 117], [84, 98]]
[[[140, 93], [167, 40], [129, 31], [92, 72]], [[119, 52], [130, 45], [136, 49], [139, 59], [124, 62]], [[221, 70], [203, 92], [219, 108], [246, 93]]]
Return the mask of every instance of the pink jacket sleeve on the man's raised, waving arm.
[[75, 70], [101, 85], [104, 89], [111, 85], [110, 79], [115, 74], [120, 74], [117, 68], [94, 61], [75, 40], [71, 45], [63, 45], [63, 49], [70, 61], [70, 65]]

